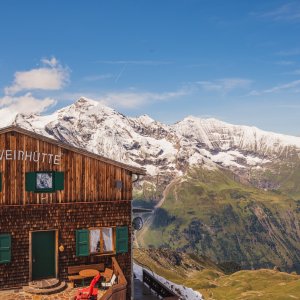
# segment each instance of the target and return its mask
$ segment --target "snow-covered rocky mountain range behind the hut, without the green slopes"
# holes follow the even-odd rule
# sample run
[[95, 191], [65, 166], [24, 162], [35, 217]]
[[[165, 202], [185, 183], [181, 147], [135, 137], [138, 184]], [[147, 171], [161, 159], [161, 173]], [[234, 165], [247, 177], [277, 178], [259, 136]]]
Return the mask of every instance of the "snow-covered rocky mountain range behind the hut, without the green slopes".
[[151, 176], [180, 175], [192, 165], [261, 169], [291, 151], [300, 152], [299, 137], [192, 116], [166, 125], [147, 115], [126, 117], [84, 97], [50, 115], [19, 114], [14, 124], [145, 167]]

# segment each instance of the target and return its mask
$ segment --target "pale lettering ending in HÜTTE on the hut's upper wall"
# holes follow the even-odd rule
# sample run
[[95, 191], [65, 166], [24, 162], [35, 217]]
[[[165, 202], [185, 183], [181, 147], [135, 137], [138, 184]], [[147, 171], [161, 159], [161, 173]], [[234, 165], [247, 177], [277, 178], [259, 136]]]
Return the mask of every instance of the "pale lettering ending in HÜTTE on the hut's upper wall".
[[23, 150], [0, 150], [1, 160], [26, 160], [60, 165], [61, 155]]

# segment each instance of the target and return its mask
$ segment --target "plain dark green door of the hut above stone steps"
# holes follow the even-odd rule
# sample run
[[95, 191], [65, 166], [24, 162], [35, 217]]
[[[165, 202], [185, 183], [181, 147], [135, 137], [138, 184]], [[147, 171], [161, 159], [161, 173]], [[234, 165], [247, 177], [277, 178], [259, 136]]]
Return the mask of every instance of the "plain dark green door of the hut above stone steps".
[[32, 233], [32, 280], [55, 277], [55, 231]]

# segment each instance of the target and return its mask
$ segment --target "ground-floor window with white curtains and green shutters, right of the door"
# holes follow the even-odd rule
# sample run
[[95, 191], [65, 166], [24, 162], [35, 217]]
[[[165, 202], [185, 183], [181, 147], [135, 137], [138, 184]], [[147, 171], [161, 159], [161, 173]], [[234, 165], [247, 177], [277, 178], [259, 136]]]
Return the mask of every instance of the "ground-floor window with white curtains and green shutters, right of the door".
[[127, 227], [100, 227], [76, 231], [76, 255], [128, 252]]

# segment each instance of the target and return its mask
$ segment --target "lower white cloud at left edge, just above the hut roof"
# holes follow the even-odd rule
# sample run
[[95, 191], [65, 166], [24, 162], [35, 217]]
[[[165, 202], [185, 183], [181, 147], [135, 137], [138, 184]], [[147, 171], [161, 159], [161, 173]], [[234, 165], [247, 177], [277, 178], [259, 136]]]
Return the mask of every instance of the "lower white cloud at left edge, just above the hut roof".
[[10, 125], [18, 113], [42, 113], [56, 104], [52, 98], [37, 99], [31, 93], [0, 98], [0, 126]]

